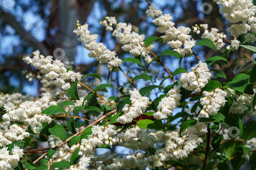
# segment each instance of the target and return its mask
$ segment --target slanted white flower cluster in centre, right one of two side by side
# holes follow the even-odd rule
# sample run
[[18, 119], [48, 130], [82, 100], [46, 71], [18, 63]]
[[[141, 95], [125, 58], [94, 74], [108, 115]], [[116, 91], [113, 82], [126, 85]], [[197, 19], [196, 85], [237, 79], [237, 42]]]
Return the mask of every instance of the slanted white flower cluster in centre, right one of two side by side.
[[155, 119], [166, 119], [168, 116], [172, 115], [173, 110], [180, 105], [180, 99], [180, 86], [174, 86], [174, 88], [168, 91], [167, 97], [165, 96], [159, 102], [157, 106], [158, 111], [153, 114]]

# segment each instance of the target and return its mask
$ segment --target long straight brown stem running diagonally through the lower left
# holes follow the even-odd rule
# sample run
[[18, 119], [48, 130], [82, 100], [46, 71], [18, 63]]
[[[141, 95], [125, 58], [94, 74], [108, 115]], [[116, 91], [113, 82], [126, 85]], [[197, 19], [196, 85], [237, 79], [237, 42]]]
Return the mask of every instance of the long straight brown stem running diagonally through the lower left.
[[[112, 111], [110, 111], [110, 112], [108, 112], [106, 115], [104, 115], [104, 116], [102, 116], [101, 118], [99, 118], [98, 120], [92, 122], [92, 123], [89, 124], [87, 127], [96, 125], [98, 122], [102, 121], [102, 120], [105, 119], [107, 116], [110, 116], [110, 115], [112, 115], [112, 114], [115, 113], [115, 112], [116, 112], [116, 109], [115, 109], [115, 110], [112, 110]], [[70, 136], [68, 139], [66, 139], [66, 140], [63, 141], [62, 143], [56, 145], [56, 146], [53, 147], [52, 149], [58, 149], [58, 148], [61, 147], [62, 145], [68, 143], [68, 142], [70, 141], [70, 139], [73, 138], [74, 136], [78, 136], [78, 135], [82, 134], [82, 132], [83, 132], [87, 127], [83, 128], [82, 130], [80, 130], [79, 132], [77, 132], [76, 134], [74, 134], [73, 136]], [[45, 157], [45, 156], [46, 156], [46, 152], [45, 152], [43, 155], [41, 155], [39, 158], [37, 158], [33, 163], [35, 164], [36, 162], [40, 161], [40, 160], [41, 160], [43, 157]]]

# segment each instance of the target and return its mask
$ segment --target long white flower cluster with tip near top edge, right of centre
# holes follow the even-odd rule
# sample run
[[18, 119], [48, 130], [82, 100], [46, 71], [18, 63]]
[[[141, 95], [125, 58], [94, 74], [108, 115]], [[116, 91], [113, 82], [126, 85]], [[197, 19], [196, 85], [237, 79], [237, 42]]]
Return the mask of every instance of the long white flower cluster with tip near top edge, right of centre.
[[[196, 41], [191, 39], [192, 36], [189, 35], [190, 28], [184, 26], [175, 28], [175, 23], [170, 21], [173, 17], [170, 14], [162, 14], [161, 10], [155, 8], [154, 3], [150, 4], [146, 14], [148, 17], [155, 18], [152, 22], [159, 26], [156, 31], [165, 33], [165, 35], [161, 36], [164, 43], [174, 48], [174, 51], [177, 51], [180, 56], [192, 56], [192, 47], [195, 46]], [[182, 45], [183, 48], [181, 48]]]

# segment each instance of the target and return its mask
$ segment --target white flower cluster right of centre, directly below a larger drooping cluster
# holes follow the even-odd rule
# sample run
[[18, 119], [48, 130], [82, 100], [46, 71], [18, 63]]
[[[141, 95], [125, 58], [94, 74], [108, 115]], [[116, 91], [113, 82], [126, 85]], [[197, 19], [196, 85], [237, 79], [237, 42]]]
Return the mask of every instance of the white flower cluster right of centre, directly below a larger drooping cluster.
[[[229, 91], [227, 93], [226, 91]], [[200, 111], [199, 116], [201, 117], [209, 117], [217, 114], [218, 110], [220, 110], [221, 106], [225, 105], [226, 97], [231, 97], [234, 95], [233, 89], [226, 89], [226, 91], [215, 88], [215, 90], [211, 92], [203, 91], [203, 98], [200, 99], [200, 104], [203, 105], [203, 109]], [[231, 96], [230, 96], [231, 95]]]

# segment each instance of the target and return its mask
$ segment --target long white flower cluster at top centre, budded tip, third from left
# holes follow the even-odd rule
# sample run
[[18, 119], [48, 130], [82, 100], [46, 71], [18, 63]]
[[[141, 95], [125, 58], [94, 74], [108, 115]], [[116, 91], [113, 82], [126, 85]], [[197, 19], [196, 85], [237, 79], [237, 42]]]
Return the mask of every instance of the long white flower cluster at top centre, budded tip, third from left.
[[[144, 47], [140, 45], [144, 44], [145, 35], [139, 35], [138, 33], [132, 31], [132, 25], [129, 23], [119, 22], [117, 24], [115, 17], [105, 17], [103, 21], [101, 21], [103, 26], [106, 26], [107, 30], [112, 31], [112, 25], [115, 25], [115, 30], [113, 31], [112, 36], [116, 37], [121, 44], [125, 44], [122, 46], [122, 49], [126, 52], [130, 52], [133, 56], [137, 57], [141, 55], [144, 57], [146, 63], [150, 63], [152, 58], [149, 56], [149, 51], [147, 51]], [[111, 28], [110, 28], [111, 27]], [[149, 50], [153, 49], [154, 44], [150, 44], [147, 48]]]

